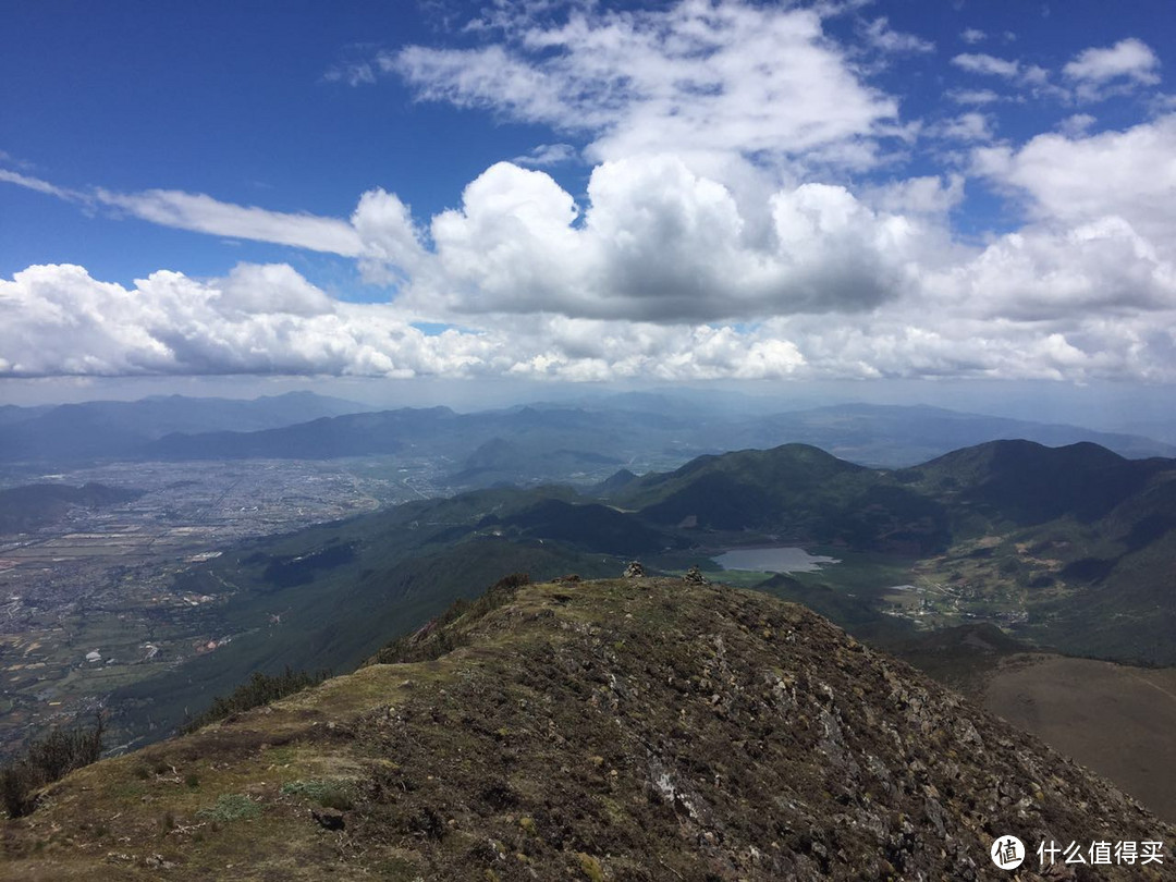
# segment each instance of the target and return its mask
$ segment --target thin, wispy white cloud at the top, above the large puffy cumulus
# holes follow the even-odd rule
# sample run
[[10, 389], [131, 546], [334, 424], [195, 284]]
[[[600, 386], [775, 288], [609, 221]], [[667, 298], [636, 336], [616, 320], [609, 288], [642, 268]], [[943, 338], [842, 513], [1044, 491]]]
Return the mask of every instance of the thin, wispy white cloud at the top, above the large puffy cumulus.
[[857, 142], [897, 113], [808, 9], [687, 0], [659, 12], [576, 11], [552, 26], [508, 18], [505, 27], [503, 44], [412, 46], [380, 64], [421, 100], [587, 133], [596, 161], [688, 145], [871, 165], [874, 148]]

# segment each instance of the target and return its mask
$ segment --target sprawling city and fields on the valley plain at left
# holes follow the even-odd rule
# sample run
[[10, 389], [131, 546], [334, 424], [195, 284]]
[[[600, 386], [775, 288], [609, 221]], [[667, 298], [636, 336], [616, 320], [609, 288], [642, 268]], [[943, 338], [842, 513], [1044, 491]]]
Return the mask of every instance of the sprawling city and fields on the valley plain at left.
[[[72, 506], [0, 535], [0, 755], [32, 731], [98, 711], [111, 690], [233, 639], [232, 593], [176, 575], [249, 537], [439, 495], [423, 460], [116, 463], [7, 483], [98, 483], [132, 501]], [[206, 589], [207, 590], [207, 589]], [[281, 610], [273, 613], [280, 623]]]

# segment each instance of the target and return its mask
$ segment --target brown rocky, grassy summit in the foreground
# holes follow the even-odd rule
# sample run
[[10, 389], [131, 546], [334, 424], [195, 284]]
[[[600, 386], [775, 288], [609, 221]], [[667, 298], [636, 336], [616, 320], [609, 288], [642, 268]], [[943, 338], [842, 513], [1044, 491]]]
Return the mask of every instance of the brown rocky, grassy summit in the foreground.
[[908, 666], [642, 576], [500, 584], [354, 674], [69, 775], [2, 842], [12, 880], [1176, 878], [1176, 830]]

